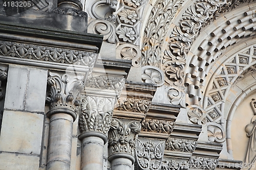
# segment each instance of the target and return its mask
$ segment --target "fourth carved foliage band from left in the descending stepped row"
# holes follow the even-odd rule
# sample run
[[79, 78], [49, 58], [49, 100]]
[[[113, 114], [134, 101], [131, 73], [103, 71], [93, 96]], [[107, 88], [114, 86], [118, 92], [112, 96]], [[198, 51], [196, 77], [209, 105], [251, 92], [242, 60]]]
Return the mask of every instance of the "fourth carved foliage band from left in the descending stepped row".
[[169, 137], [165, 142], [165, 150], [193, 153], [197, 147], [196, 140]]

